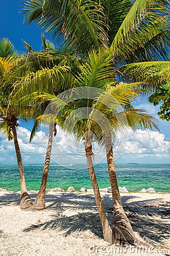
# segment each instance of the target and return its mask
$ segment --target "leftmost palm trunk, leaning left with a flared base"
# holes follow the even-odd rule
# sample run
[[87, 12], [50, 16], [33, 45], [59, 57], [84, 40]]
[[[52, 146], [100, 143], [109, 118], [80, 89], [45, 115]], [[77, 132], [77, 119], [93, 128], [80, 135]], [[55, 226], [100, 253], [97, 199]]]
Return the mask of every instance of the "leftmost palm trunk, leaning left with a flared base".
[[24, 167], [22, 162], [22, 156], [20, 154], [16, 127], [12, 126], [11, 128], [12, 128], [12, 133], [14, 135], [15, 152], [16, 152], [16, 158], [18, 162], [19, 175], [20, 175], [20, 208], [25, 209], [32, 206], [32, 200], [28, 195], [27, 188], [25, 185]]

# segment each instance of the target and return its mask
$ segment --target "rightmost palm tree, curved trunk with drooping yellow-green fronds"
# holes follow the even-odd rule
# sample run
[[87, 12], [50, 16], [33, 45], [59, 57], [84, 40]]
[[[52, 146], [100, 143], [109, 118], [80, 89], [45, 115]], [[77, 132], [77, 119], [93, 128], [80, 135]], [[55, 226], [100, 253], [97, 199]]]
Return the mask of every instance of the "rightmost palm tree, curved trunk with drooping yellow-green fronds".
[[[132, 101], [134, 97], [137, 97], [137, 88], [138, 84], [125, 83], [120, 83], [116, 86], [108, 86], [106, 91], [101, 93], [100, 96], [97, 98], [96, 102], [94, 103], [94, 109], [97, 109], [98, 111], [103, 113], [103, 115], [107, 117], [109, 123], [113, 127], [113, 129], [111, 129], [111, 127], [109, 127], [108, 125], [104, 127], [104, 143], [107, 155], [109, 179], [112, 188], [112, 230], [115, 241], [133, 242], [135, 240], [135, 236], [133, 234], [130, 222], [126, 217], [126, 214], [122, 207], [120, 192], [118, 190], [116, 170], [114, 167], [112, 147], [113, 142], [111, 131], [113, 134], [115, 134], [117, 133], [117, 131], [127, 129], [128, 127], [133, 130], [138, 128], [142, 129], [142, 127], [144, 127], [145, 129], [152, 129], [152, 127], [158, 129], [158, 126], [155, 123], [156, 118], [148, 115], [143, 110], [133, 109], [130, 101]], [[124, 111], [115, 112], [115, 110], [118, 109], [120, 105], [122, 105]], [[94, 114], [91, 113], [90, 117], [94, 119], [95, 112]], [[98, 117], [100, 116], [98, 115]]]

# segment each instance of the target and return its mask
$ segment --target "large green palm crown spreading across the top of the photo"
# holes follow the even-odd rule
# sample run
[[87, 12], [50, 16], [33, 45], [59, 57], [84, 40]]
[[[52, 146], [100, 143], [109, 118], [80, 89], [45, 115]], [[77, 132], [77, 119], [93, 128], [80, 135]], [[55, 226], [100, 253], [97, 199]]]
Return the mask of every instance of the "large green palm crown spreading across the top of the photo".
[[75, 55], [110, 49], [118, 82], [141, 81], [147, 90], [167, 82], [162, 70], [168, 74], [170, 68], [169, 0], [27, 0], [22, 11], [25, 23], [36, 22]]

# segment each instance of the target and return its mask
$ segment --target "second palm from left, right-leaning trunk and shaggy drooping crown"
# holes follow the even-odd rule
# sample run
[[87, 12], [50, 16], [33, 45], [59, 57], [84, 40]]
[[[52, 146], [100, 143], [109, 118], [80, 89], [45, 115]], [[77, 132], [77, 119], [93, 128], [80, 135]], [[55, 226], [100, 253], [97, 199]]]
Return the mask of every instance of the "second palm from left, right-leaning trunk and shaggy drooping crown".
[[[31, 142], [37, 128], [40, 126], [40, 121], [42, 121], [41, 115], [44, 113], [50, 100], [50, 98], [46, 98], [45, 101], [43, 100], [43, 92], [58, 94], [68, 88], [68, 86], [71, 88], [74, 84], [74, 75], [80, 72], [78, 67], [80, 58], [74, 57], [70, 51], [66, 52], [66, 47], [65, 52], [56, 50], [54, 45], [44, 38], [44, 35], [42, 35], [42, 51], [40, 52], [34, 51], [26, 42], [24, 42], [24, 44], [28, 49], [28, 55], [24, 57], [26, 61], [22, 68], [26, 70], [27, 73], [22, 80], [15, 82], [14, 98], [17, 102], [22, 97], [21, 95], [23, 95], [24, 104], [36, 105], [36, 112], [34, 114], [35, 123], [30, 137]], [[39, 114], [37, 115], [37, 113]], [[48, 179], [50, 155], [52, 152], [53, 130], [55, 129], [56, 124], [54, 120], [52, 120], [49, 126], [49, 140], [41, 187], [32, 206], [33, 209], [45, 208], [45, 190]]]

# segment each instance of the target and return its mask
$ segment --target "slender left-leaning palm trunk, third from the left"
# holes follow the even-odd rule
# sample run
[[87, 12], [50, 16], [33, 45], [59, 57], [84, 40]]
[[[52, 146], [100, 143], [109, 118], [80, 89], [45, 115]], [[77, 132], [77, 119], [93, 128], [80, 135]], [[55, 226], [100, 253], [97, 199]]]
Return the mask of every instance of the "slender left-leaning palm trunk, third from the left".
[[92, 162], [92, 154], [90, 151], [86, 151], [86, 158], [87, 158], [88, 172], [90, 174], [92, 187], [94, 189], [97, 210], [99, 212], [99, 217], [100, 217], [101, 225], [103, 228], [104, 240], [112, 244], [113, 243], [113, 233], [112, 233], [111, 226], [109, 225], [107, 216], [105, 214], [103, 202], [101, 200], [99, 186], [97, 184], [94, 166], [93, 166], [93, 162]]

